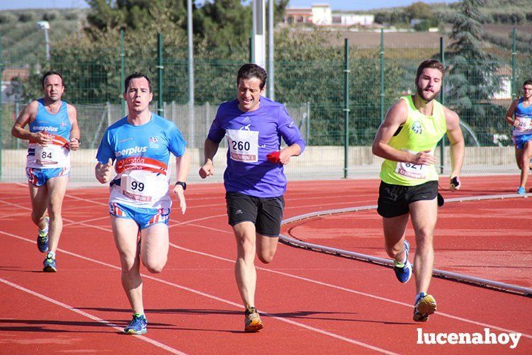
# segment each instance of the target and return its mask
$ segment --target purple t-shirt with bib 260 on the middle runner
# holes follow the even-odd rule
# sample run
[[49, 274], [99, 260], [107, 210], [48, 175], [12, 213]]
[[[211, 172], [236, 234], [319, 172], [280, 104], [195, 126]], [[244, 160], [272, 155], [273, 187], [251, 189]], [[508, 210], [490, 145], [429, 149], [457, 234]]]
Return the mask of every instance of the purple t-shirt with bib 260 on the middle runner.
[[240, 111], [237, 100], [222, 103], [208, 139], [219, 144], [223, 137], [229, 144], [226, 191], [262, 198], [283, 196], [283, 165], [269, 162], [266, 155], [279, 150], [281, 137], [287, 145], [297, 143], [301, 152], [305, 150], [305, 142], [285, 106], [263, 96], [256, 111]]

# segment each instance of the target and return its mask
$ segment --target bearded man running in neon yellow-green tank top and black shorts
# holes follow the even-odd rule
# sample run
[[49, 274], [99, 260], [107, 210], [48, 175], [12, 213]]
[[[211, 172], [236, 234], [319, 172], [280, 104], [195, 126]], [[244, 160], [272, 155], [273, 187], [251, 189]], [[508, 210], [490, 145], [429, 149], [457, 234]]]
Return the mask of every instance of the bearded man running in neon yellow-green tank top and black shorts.
[[[426, 322], [436, 312], [436, 300], [427, 292], [434, 265], [434, 228], [438, 216], [438, 173], [434, 149], [443, 135], [451, 142], [449, 189], [460, 188], [464, 142], [460, 118], [438, 103], [445, 68], [437, 60], [425, 60], [417, 69], [417, 92], [404, 96], [386, 113], [372, 151], [384, 158], [380, 171], [377, 212], [383, 217], [387, 254], [394, 259], [395, 276], [406, 283], [414, 275], [416, 322]], [[410, 244], [406, 228], [412, 220], [416, 237], [414, 266], [408, 261]]]

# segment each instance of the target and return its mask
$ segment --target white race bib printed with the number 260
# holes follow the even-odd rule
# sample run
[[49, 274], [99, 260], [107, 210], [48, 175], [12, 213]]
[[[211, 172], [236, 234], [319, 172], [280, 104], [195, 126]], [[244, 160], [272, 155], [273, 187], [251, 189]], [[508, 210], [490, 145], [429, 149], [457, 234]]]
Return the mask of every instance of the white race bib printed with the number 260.
[[255, 163], [259, 161], [259, 131], [227, 130], [231, 159], [237, 162]]

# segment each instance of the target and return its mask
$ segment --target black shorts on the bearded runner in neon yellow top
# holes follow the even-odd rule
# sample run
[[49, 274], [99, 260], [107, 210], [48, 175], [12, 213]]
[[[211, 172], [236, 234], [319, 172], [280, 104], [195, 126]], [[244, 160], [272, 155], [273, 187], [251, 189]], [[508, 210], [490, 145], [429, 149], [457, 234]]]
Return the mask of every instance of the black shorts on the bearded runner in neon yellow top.
[[386, 184], [380, 181], [377, 212], [385, 218], [409, 213], [409, 204], [434, 200], [438, 195], [438, 181], [428, 181], [417, 186]]

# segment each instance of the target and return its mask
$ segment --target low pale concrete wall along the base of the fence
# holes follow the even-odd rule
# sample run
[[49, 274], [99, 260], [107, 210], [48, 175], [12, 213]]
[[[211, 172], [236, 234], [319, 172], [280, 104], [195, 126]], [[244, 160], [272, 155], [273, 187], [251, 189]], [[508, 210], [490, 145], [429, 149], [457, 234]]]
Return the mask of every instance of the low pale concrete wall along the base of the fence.
[[[227, 148], [220, 147], [215, 156], [215, 176], [209, 181], [222, 181]], [[203, 150], [192, 149], [189, 181], [200, 181], [198, 169], [203, 164]], [[446, 147], [444, 174], [451, 167], [449, 149]], [[72, 152], [71, 181], [91, 184], [94, 179], [96, 150]], [[439, 148], [436, 157], [440, 161]], [[370, 147], [349, 148], [349, 177], [378, 177], [382, 159], [371, 154]], [[172, 164], [173, 165], [173, 164]], [[1, 181], [26, 181], [26, 150], [3, 150], [1, 154]], [[175, 171], [172, 168], [172, 176]], [[513, 147], [467, 147], [463, 174], [518, 174]], [[290, 179], [341, 179], [344, 177], [343, 147], [307, 147], [301, 157], [293, 157], [285, 166]], [[96, 183], [97, 184], [97, 183]]]

